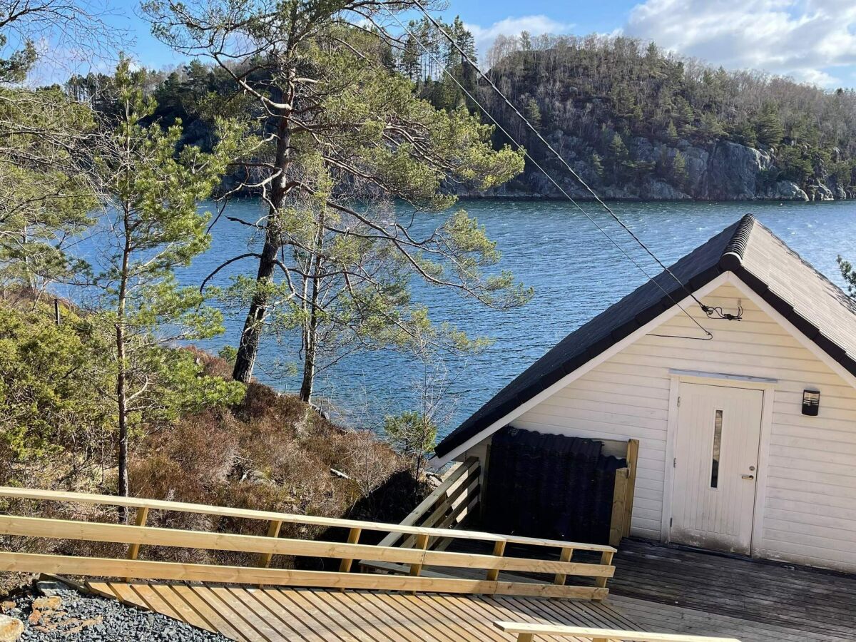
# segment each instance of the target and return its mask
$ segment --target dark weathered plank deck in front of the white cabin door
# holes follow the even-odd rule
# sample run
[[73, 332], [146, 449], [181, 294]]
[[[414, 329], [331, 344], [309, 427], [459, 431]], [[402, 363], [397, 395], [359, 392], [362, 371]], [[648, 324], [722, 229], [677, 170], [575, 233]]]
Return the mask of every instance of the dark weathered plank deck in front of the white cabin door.
[[657, 631], [757, 642], [856, 639], [856, 575], [625, 540], [610, 603]]

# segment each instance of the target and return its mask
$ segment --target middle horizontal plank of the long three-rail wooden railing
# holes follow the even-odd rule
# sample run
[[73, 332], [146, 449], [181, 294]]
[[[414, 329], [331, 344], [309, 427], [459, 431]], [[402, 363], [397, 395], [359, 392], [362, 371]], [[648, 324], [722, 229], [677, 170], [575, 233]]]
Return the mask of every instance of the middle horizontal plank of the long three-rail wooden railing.
[[[508, 571], [532, 573], [567, 573], [572, 575], [600, 576], [603, 571], [596, 565], [562, 565], [550, 560], [527, 558], [497, 558], [489, 555], [474, 555], [445, 551], [423, 551], [380, 547], [370, 544], [341, 544], [312, 540], [269, 538], [255, 535], [234, 535], [199, 531], [181, 531], [151, 526], [127, 526], [123, 524], [99, 524], [75, 520], [46, 520], [39, 517], [15, 517], [0, 515], [0, 533], [39, 538], [77, 539], [90, 542], [135, 542], [152, 546], [179, 548], [235, 550], [267, 555], [338, 557], [419, 563], [431, 566], [497, 568]], [[503, 543], [504, 544], [504, 543]], [[575, 544], [574, 544], [575, 545]]]

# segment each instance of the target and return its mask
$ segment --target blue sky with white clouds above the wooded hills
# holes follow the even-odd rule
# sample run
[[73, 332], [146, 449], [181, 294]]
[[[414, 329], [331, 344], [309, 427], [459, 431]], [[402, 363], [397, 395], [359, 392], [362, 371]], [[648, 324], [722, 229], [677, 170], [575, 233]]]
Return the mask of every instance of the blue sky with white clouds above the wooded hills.
[[[127, 49], [154, 68], [181, 62], [149, 33], [134, 0], [109, 3]], [[485, 51], [497, 34], [626, 33], [726, 68], [856, 87], [856, 0], [449, 0]]]

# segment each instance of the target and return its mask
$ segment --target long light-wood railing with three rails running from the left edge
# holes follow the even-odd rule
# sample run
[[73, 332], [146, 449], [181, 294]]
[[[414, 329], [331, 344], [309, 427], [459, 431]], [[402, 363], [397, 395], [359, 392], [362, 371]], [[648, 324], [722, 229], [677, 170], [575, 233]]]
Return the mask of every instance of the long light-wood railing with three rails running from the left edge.
[[[615, 574], [612, 556], [615, 549], [599, 544], [575, 544], [549, 539], [496, 535], [488, 532], [451, 530], [436, 527], [384, 524], [360, 520], [341, 520], [312, 515], [273, 513], [206, 506], [183, 502], [163, 502], [136, 497], [86, 495], [51, 490], [0, 487], [0, 497], [37, 501], [96, 504], [135, 508], [134, 525], [104, 524], [78, 520], [56, 520], [39, 517], [0, 515], [0, 535], [28, 538], [55, 538], [128, 545], [126, 559], [67, 555], [44, 555], [0, 551], [0, 571], [24, 573], [70, 574], [128, 580], [186, 580], [220, 583], [280, 586], [315, 586], [328, 588], [378, 589], [385, 591], [432, 591], [448, 593], [484, 593], [603, 599], [608, 594], [606, 581]], [[238, 535], [224, 532], [186, 531], [146, 526], [151, 511], [208, 514], [219, 517], [263, 520], [268, 535]], [[348, 543], [278, 537], [282, 524], [340, 527], [348, 529]], [[413, 537], [413, 548], [383, 544], [360, 544], [364, 531], [396, 533]], [[445, 550], [429, 550], [432, 538], [473, 539], [494, 545], [496, 555], [471, 555]], [[546, 554], [535, 559], [502, 556], [507, 543], [528, 544], [537, 550], [561, 550], [560, 559]], [[255, 567], [216, 564], [154, 562], [137, 559], [140, 546], [163, 546], [195, 550], [239, 551], [258, 555]], [[570, 562], [574, 550], [601, 553], [600, 563]], [[307, 571], [291, 568], [267, 568], [273, 556], [311, 556], [340, 560], [339, 571]], [[354, 560], [407, 564], [409, 574], [382, 575], [349, 572]], [[426, 566], [476, 568], [484, 570], [484, 580], [447, 579], [421, 576]], [[496, 579], [499, 571], [555, 574], [554, 584], [503, 582]], [[595, 586], [566, 586], [567, 576], [594, 579]]]

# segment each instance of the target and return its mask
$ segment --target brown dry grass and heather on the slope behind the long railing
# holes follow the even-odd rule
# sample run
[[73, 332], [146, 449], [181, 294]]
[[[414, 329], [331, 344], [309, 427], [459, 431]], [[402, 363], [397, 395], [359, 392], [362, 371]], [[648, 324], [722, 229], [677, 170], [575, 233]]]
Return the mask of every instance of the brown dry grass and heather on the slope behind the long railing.
[[[227, 375], [228, 364], [195, 350], [210, 374]], [[3, 454], [0, 453], [0, 456]], [[110, 453], [107, 454], [110, 457]], [[404, 473], [405, 464], [373, 433], [346, 431], [315, 413], [293, 395], [280, 395], [259, 383], [247, 387], [240, 407], [183, 417], [168, 429], [146, 435], [135, 444], [130, 462], [134, 496], [253, 508], [278, 512], [387, 520], [399, 510], [407, 514], [423, 488]], [[74, 462], [59, 455], [51, 466], [19, 469], [4, 484], [46, 489], [110, 492], [115, 470], [103, 475], [75, 473]], [[332, 473], [335, 469], [347, 478]], [[0, 475], [2, 476], [2, 475]], [[390, 490], [391, 489], [391, 490]], [[382, 496], [382, 499], [378, 499]], [[390, 508], [390, 502], [395, 508]], [[398, 506], [398, 505], [401, 506]], [[372, 514], [377, 508], [377, 514]], [[0, 501], [10, 514], [39, 515], [74, 520], [116, 521], [115, 508], [56, 505], [50, 502]], [[155, 511], [152, 526], [190, 530], [265, 534], [256, 520], [213, 518], [199, 514]], [[318, 529], [283, 525], [282, 536], [317, 538]], [[341, 538], [325, 533], [325, 538]], [[3, 550], [56, 552], [90, 556], [122, 556], [122, 545], [88, 544], [0, 537]], [[143, 547], [142, 559], [186, 562], [250, 563], [250, 556]], [[293, 560], [275, 558], [275, 566]], [[15, 582], [15, 578], [9, 578]], [[0, 587], [9, 581], [0, 582]]]

